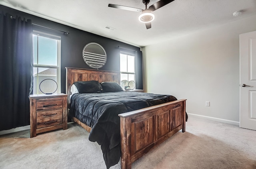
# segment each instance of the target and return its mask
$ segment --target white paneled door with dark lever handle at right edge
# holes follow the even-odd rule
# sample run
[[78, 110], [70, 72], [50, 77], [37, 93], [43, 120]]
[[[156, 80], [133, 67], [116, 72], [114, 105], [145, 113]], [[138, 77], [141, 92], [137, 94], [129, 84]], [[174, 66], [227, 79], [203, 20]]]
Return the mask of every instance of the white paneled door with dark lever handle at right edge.
[[256, 130], [256, 31], [240, 35], [240, 127]]

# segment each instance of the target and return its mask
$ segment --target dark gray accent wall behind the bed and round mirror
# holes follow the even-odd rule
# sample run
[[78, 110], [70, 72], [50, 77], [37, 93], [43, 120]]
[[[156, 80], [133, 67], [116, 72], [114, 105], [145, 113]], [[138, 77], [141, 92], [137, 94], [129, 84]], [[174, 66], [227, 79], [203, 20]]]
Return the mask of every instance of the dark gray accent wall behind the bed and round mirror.
[[52, 22], [44, 18], [40, 18], [31, 14], [27, 14], [25, 12], [21, 12], [0, 5], [0, 12], [2, 11], [4, 12], [4, 14], [11, 14], [14, 18], [16, 18], [16, 16], [21, 16], [22, 18], [24, 17], [26, 20], [31, 19], [32, 23], [34, 24], [68, 31], [70, 33], [69, 35], [67, 35], [60, 31], [42, 28], [35, 25], [33, 26], [34, 30], [43, 31], [61, 37], [61, 92], [66, 92], [65, 67], [92, 69], [88, 65], [86, 65], [82, 58], [82, 50], [84, 46], [90, 42], [99, 43], [100, 45], [102, 45], [102, 47], [104, 47], [107, 53], [107, 62], [99, 70], [120, 71], [120, 49], [118, 49], [118, 46], [138, 51], [138, 54], [136, 55], [136, 87], [138, 89], [142, 89], [142, 53], [139, 47], [132, 46], [100, 35], [96, 35], [90, 32], [86, 32], [80, 29], [72, 28], [70, 26]]

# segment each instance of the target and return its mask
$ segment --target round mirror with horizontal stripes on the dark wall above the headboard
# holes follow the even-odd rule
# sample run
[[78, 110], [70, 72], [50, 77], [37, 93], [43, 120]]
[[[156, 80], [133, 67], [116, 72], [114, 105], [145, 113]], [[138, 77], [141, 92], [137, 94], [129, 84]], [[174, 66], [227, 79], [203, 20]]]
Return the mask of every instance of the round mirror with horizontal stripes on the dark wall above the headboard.
[[98, 69], [105, 65], [107, 54], [100, 44], [92, 42], [84, 46], [83, 59], [89, 67]]

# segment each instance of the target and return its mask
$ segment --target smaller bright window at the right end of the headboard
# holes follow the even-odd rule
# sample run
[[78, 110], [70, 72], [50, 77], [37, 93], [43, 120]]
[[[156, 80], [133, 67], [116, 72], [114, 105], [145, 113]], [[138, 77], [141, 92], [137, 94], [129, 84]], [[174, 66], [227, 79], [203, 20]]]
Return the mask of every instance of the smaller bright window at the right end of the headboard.
[[128, 86], [130, 81], [135, 82], [135, 55], [120, 53], [120, 85]]

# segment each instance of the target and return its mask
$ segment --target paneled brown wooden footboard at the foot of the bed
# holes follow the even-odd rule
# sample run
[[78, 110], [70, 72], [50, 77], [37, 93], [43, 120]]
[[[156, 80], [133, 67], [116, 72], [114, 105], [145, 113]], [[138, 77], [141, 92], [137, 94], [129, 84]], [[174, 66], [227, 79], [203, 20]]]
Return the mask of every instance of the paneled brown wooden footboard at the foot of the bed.
[[182, 129], [185, 132], [186, 99], [119, 114], [121, 166], [131, 164], [153, 147]]

